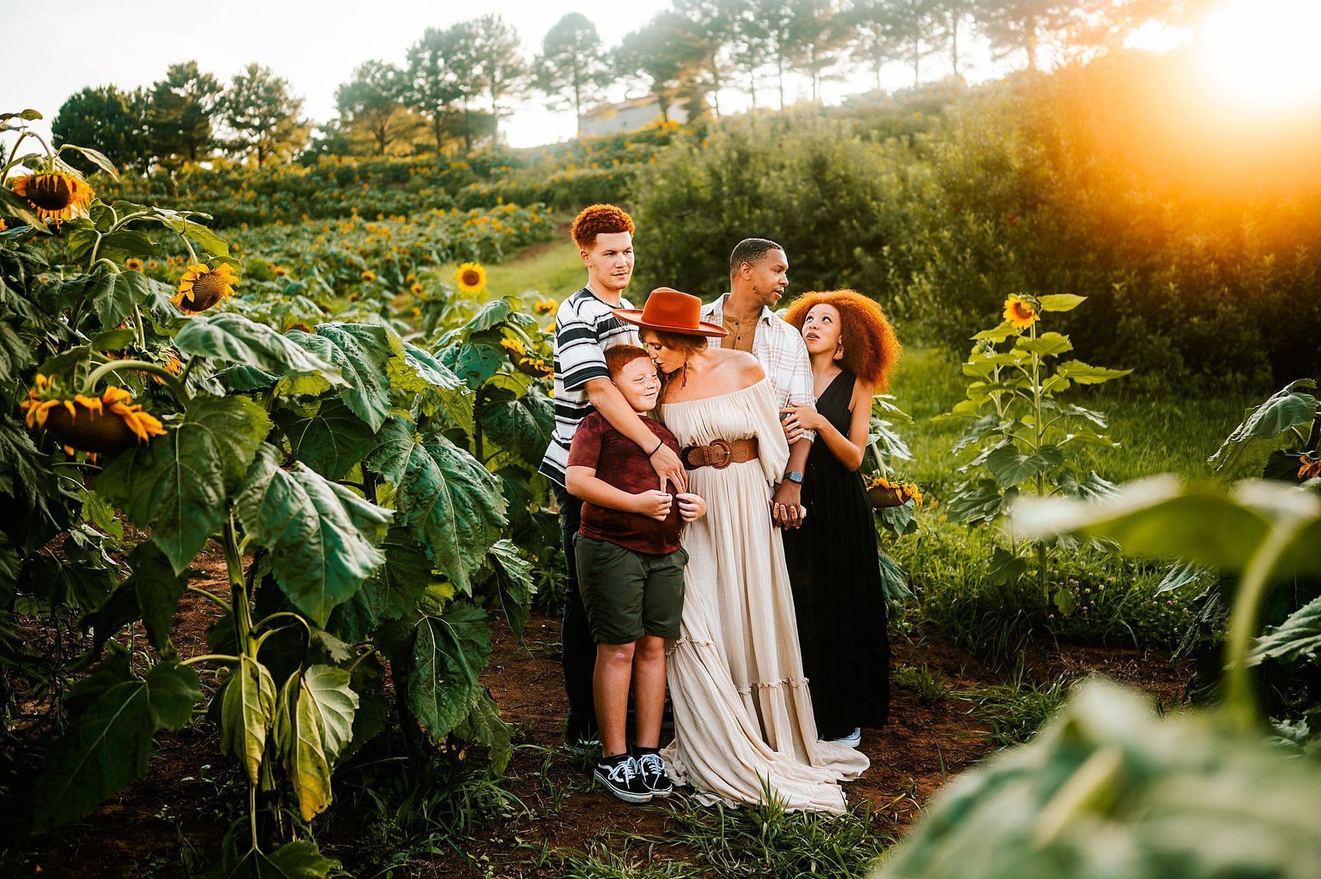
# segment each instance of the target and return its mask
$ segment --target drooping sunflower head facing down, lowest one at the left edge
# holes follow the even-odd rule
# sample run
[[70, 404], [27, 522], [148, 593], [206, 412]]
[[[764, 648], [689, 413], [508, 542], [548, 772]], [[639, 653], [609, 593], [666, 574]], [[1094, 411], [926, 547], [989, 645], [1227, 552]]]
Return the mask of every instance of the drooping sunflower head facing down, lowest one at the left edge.
[[54, 376], [38, 375], [18, 407], [29, 428], [49, 430], [66, 453], [96, 454], [127, 449], [135, 438], [151, 442], [152, 437], [165, 436], [160, 420], [132, 400], [132, 393], [115, 387], [106, 388], [99, 397], [75, 393], [70, 399]]

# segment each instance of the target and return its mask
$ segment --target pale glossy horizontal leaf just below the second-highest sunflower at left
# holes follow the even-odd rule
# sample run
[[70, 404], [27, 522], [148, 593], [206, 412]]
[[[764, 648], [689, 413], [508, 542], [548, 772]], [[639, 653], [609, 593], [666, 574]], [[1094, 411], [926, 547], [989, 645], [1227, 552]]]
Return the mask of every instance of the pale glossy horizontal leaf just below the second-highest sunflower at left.
[[184, 354], [251, 366], [272, 375], [313, 372], [332, 385], [347, 384], [328, 359], [232, 311], [189, 318], [174, 337], [174, 347]]

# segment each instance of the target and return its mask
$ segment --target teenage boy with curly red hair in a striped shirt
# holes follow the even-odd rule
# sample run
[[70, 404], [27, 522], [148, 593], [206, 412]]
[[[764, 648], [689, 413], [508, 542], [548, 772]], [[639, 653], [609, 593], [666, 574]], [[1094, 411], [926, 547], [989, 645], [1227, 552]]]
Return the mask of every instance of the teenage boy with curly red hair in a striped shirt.
[[670, 480], [687, 488], [687, 474], [676, 450], [671, 450], [629, 407], [610, 381], [605, 351], [614, 344], [638, 344], [637, 329], [614, 317], [614, 309], [630, 308], [624, 290], [633, 277], [633, 218], [614, 205], [592, 205], [577, 215], [572, 228], [579, 257], [587, 267], [587, 285], [560, 302], [555, 314], [555, 432], [540, 472], [555, 486], [564, 542], [564, 693], [569, 711], [564, 744], [575, 754], [598, 744], [592, 706], [592, 672], [596, 647], [579, 594], [573, 535], [581, 525], [581, 500], [564, 487], [569, 445], [579, 422], [600, 412], [612, 428], [649, 454], [655, 488]]

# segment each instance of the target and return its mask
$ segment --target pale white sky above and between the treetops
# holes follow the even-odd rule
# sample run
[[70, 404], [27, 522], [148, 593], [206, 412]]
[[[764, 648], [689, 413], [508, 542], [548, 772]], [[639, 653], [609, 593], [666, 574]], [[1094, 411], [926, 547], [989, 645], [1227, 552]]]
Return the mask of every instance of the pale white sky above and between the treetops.
[[[189, 7], [155, 0], [91, 3], [65, 0], [59, 4], [0, 0], [0, 32], [40, 34], [34, 40], [5, 41], [5, 70], [0, 77], [0, 112], [32, 107], [45, 120], [34, 128], [49, 133], [50, 120], [73, 92], [85, 86], [115, 84], [123, 90], [149, 86], [165, 74], [170, 63], [197, 59], [205, 71], [223, 82], [244, 65], [269, 66], [289, 81], [303, 96], [304, 115], [324, 121], [336, 115], [334, 92], [353, 75], [353, 69], [369, 58], [403, 65], [408, 46], [427, 28], [448, 26], [464, 18], [495, 12], [518, 28], [527, 58], [540, 49], [542, 38], [563, 15], [583, 12], [606, 46], [617, 45], [630, 30], [642, 26], [670, 0], [631, 0], [622, 4], [592, 5], [557, 0], [490, 0], [486, 3], [424, 3], [421, 0], [373, 0], [370, 4], [328, 0], [288, 3], [285, 0], [229, 0], [219, 7]], [[211, 12], [214, 9], [215, 12]], [[370, 9], [370, 16], [365, 16]], [[999, 75], [976, 38], [968, 38], [960, 54], [970, 81]], [[54, 54], [53, 54], [54, 53]], [[978, 61], [980, 59], [980, 62]], [[943, 57], [929, 58], [923, 79], [947, 71]], [[20, 73], [22, 71], [22, 73]], [[911, 69], [893, 65], [884, 71], [888, 88], [911, 83]], [[762, 102], [771, 96], [766, 83]], [[857, 71], [823, 86], [827, 103], [843, 95], [867, 91], [873, 78]], [[806, 79], [794, 78], [790, 100], [810, 95]], [[639, 90], [629, 96], [637, 96]], [[624, 87], [609, 95], [625, 98]], [[725, 112], [742, 110], [746, 98], [721, 92]], [[502, 121], [513, 146], [535, 146], [573, 136], [572, 112], [546, 108], [542, 95], [532, 92], [514, 115]]]

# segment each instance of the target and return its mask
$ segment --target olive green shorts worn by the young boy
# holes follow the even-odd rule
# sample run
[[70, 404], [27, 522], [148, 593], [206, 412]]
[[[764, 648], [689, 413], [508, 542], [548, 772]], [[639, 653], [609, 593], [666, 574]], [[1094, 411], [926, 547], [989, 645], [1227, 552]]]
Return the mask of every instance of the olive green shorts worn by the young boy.
[[584, 535], [573, 535], [573, 552], [596, 643], [629, 644], [643, 635], [679, 637], [687, 552], [645, 556]]

